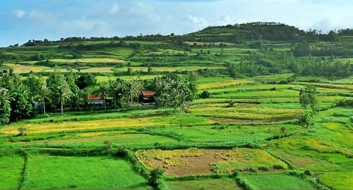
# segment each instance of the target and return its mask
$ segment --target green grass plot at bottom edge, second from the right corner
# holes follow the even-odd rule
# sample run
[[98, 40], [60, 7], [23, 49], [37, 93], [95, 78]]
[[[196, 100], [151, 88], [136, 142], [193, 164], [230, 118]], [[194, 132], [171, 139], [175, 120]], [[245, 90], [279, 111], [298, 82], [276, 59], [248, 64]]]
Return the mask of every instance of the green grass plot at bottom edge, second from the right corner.
[[245, 184], [250, 185], [254, 190], [315, 190], [308, 180], [302, 180], [295, 176], [280, 173], [240, 174], [239, 178]]

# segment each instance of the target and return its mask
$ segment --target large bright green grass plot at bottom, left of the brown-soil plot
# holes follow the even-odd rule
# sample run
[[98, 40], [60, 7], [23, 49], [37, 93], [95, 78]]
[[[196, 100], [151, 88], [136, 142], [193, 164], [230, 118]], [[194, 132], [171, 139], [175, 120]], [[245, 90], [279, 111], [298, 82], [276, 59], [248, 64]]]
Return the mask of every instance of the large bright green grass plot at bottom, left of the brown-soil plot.
[[30, 156], [23, 188], [151, 189], [131, 167], [109, 157]]

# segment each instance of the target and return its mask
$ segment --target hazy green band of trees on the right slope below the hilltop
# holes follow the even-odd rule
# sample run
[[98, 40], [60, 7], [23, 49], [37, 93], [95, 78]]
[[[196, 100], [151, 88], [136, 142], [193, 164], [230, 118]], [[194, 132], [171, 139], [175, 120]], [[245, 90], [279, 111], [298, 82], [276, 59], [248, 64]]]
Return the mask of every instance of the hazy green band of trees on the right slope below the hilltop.
[[230, 76], [253, 77], [256, 75], [294, 72], [298, 76], [338, 76], [350, 75], [350, 63], [334, 57], [295, 58], [292, 52], [263, 50], [244, 57], [239, 64], [227, 63]]

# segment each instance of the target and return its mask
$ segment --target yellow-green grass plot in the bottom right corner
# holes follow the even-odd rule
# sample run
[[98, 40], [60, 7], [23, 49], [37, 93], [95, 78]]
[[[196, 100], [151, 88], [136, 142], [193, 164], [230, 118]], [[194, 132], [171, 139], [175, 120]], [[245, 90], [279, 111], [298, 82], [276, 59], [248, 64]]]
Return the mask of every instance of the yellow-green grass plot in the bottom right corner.
[[353, 172], [327, 172], [319, 175], [320, 183], [335, 190], [351, 190]]

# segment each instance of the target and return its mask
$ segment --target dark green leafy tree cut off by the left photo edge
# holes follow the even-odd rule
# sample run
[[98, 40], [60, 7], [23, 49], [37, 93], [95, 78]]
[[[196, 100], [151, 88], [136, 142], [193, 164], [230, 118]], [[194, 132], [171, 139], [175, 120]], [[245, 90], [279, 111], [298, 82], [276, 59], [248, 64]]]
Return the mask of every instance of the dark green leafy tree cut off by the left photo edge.
[[5, 125], [10, 120], [10, 95], [8, 90], [0, 88], [0, 125]]

